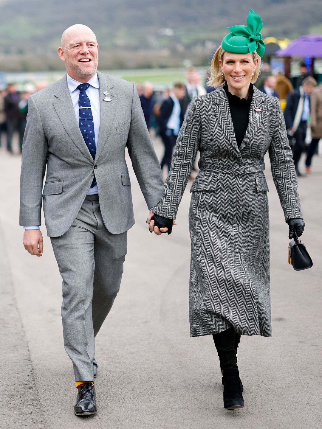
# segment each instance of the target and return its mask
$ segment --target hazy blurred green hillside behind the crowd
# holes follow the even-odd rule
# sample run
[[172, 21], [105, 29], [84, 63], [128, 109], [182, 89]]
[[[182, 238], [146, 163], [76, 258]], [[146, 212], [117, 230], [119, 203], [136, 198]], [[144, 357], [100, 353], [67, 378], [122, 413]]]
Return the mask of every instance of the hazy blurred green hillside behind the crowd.
[[76, 23], [96, 33], [104, 68], [201, 64], [227, 26], [246, 23], [249, 7], [261, 15], [264, 37], [322, 32], [321, 0], [2, 0], [1, 68], [63, 68], [56, 55], [61, 33]]

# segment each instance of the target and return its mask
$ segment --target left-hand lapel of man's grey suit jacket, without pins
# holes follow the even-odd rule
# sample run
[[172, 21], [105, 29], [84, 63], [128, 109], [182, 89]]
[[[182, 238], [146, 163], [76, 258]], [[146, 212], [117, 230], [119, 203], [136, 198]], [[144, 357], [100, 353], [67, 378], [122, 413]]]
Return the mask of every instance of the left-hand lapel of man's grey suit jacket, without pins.
[[57, 115], [66, 131], [68, 136], [72, 139], [74, 144], [79, 148], [82, 154], [93, 163], [93, 158], [88, 151], [88, 148], [84, 142], [84, 138], [79, 129], [79, 125], [75, 116], [74, 107], [70, 98], [70, 93], [67, 87], [67, 79], [64, 76], [60, 81], [60, 85], [55, 90], [55, 99], [53, 101], [54, 108]]

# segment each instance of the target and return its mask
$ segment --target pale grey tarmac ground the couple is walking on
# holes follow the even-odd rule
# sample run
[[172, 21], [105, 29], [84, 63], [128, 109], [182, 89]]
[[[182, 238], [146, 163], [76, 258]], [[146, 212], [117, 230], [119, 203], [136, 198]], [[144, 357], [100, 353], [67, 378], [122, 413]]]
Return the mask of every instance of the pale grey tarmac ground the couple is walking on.
[[[161, 155], [158, 139], [155, 148]], [[22, 245], [20, 163], [2, 145], [1, 429], [321, 427], [321, 158], [299, 180], [303, 241], [314, 263], [303, 272], [287, 263], [288, 227], [267, 162], [273, 337], [242, 337], [245, 407], [236, 411], [223, 408], [213, 339], [189, 335], [189, 183], [173, 234], [157, 237], [148, 233], [148, 210], [130, 168], [137, 223], [128, 234], [121, 290], [97, 335], [98, 412], [91, 417], [73, 414], [76, 389], [63, 347], [61, 278], [45, 227], [43, 257], [30, 256]]]

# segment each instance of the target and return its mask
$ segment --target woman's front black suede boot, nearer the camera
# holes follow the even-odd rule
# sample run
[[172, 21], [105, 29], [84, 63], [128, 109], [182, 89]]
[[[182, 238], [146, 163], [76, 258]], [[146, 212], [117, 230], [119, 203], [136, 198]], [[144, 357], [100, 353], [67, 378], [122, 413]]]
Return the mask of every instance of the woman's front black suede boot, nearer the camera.
[[[242, 384], [236, 362], [236, 339], [234, 328], [213, 334], [224, 380], [224, 407], [227, 409], [243, 408]], [[239, 339], [238, 339], [239, 343]], [[238, 345], [237, 343], [237, 345]]]

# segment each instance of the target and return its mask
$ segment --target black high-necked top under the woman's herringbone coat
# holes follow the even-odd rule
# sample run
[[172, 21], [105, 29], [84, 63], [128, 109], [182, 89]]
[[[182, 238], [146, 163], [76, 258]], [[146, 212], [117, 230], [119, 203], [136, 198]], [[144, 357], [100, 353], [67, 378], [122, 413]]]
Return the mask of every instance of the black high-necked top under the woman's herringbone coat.
[[253, 84], [251, 83], [249, 86], [249, 97], [247, 100], [246, 98], [239, 98], [237, 95], [232, 95], [228, 91], [227, 82], [225, 82], [224, 88], [228, 97], [237, 145], [240, 147], [248, 127], [250, 103], [252, 102], [252, 95], [254, 93]]

